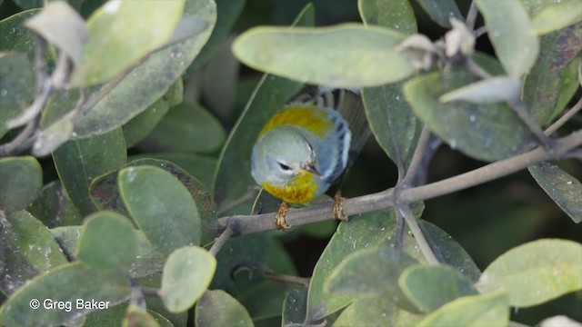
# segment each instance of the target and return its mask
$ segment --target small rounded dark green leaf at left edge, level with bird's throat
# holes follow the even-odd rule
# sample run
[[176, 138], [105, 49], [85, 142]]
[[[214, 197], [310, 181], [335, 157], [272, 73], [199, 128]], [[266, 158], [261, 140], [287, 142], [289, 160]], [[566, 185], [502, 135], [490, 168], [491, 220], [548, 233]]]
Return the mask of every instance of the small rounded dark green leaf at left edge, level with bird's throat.
[[43, 171], [34, 157], [0, 158], [0, 211], [7, 213], [32, 203], [43, 187]]

